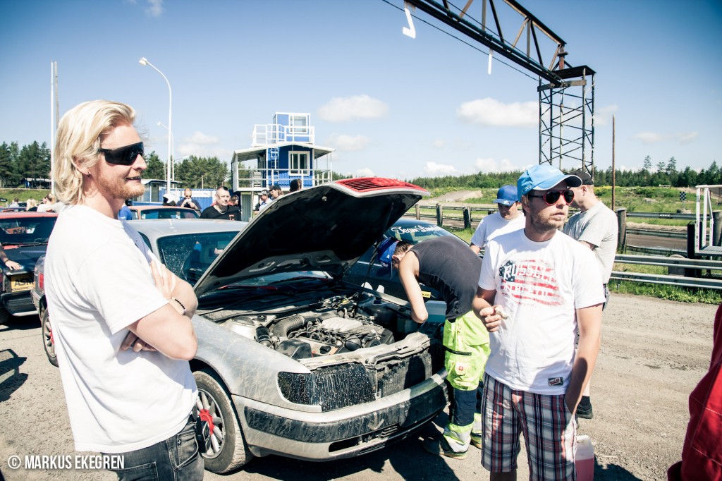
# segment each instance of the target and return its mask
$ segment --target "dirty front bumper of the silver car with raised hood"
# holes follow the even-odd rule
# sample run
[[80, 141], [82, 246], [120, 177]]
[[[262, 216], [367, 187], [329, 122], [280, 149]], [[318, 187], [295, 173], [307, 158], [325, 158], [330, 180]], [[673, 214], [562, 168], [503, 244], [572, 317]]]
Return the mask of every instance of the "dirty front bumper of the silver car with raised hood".
[[329, 461], [383, 448], [433, 420], [448, 402], [443, 377], [341, 410], [301, 412], [233, 396], [248, 448], [255, 456], [280, 454]]

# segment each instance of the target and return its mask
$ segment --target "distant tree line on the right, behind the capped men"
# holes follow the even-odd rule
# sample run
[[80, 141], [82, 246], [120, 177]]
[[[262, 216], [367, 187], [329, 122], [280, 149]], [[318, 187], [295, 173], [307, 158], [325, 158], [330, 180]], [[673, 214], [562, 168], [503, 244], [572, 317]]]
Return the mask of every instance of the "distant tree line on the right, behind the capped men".
[[[445, 175], [443, 177], [418, 177], [409, 182], [423, 188], [498, 188], [508, 183], [516, 184], [521, 171], [518, 172], [479, 172], [470, 175]], [[658, 162], [656, 169], [652, 168], [651, 157], [647, 156], [643, 167], [639, 170], [617, 169], [614, 181], [620, 187], [694, 187], [703, 184], [715, 185], [722, 183], [722, 170], [713, 161], [709, 168], [699, 172], [690, 167], [677, 170], [677, 160], [674, 157], [669, 162]], [[612, 167], [606, 170], [595, 170], [595, 186], [612, 185]]]

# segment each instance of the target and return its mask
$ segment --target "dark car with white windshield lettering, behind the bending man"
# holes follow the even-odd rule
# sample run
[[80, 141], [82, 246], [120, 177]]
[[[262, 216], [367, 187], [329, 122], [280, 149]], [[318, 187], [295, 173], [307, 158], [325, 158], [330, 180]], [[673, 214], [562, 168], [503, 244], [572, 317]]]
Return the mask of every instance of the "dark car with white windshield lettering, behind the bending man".
[[[428, 239], [445, 236], [456, 238], [460, 243], [468, 246], [461, 238], [456, 237], [456, 235], [453, 235], [448, 230], [439, 227], [433, 222], [416, 220], [411, 217], [402, 217], [394, 222], [393, 226], [383, 234], [383, 239], [393, 237], [398, 241], [417, 244]], [[391, 268], [389, 267], [383, 267], [377, 259], [376, 248], [383, 242], [383, 239], [368, 248], [356, 264], [349, 269], [344, 279], [357, 285], [367, 283], [376, 290], [382, 290], [383, 287], [384, 293], [406, 300], [406, 292], [404, 291], [404, 286], [401, 285], [401, 280], [399, 280], [399, 274], [396, 271], [391, 272]], [[422, 285], [422, 293], [430, 300], [438, 300], [438, 292], [431, 287]], [[430, 314], [432, 311], [437, 313], [439, 311], [445, 313], [446, 311], [445, 307], [432, 309], [431, 306], [427, 306], [427, 308], [429, 308]]]

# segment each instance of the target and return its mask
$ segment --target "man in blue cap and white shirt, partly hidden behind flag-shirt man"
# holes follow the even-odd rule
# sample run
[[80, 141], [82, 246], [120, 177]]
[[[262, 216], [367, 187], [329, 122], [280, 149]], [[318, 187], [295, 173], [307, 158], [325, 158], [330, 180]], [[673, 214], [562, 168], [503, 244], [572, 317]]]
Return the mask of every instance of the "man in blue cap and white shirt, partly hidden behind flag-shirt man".
[[479, 254], [482, 248], [487, 246], [487, 242], [497, 235], [524, 228], [524, 216], [519, 212], [516, 186], [502, 186], [497, 192], [494, 204], [497, 204], [498, 212], [484, 217], [471, 236], [471, 250], [474, 254]]

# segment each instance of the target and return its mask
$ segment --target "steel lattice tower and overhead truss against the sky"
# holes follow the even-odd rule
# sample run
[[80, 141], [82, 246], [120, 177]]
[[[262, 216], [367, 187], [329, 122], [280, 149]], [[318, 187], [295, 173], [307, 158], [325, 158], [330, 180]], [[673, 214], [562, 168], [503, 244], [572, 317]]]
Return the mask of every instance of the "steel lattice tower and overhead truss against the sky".
[[[411, 10], [419, 9], [487, 46], [490, 60], [493, 53], [498, 53], [538, 75], [539, 163], [562, 170], [582, 168], [593, 176], [596, 72], [586, 65], [571, 66], [566, 59], [565, 41], [515, 0], [476, 3], [481, 4], [480, 12], [471, 9], [474, 0], [467, 0], [463, 8], [449, 0], [405, 0], [404, 9], [409, 22]], [[488, 14], [492, 23], [487, 22]], [[413, 30], [413, 25], [409, 27]], [[510, 41], [505, 32], [514, 32], [514, 28], [518, 29], [516, 37]], [[526, 40], [523, 50], [518, 46], [522, 38]]]

